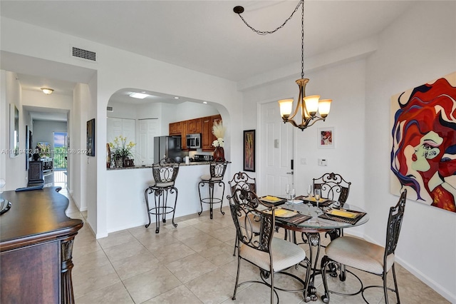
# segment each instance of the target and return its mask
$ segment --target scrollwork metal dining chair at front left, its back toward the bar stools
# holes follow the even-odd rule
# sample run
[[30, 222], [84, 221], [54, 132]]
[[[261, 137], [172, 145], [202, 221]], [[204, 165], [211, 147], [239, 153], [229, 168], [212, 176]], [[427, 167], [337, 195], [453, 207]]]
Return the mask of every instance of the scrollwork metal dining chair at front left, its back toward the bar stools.
[[[236, 226], [237, 238], [240, 245], [237, 248], [237, 276], [236, 284], [234, 286], [234, 294], [232, 300], [236, 300], [237, 288], [246, 283], [261, 283], [271, 288], [271, 303], [274, 303], [274, 294], [279, 303], [279, 295], [276, 290], [284, 290], [294, 293], [303, 293], [304, 300], [309, 301], [310, 297], [307, 295], [307, 287], [309, 284], [310, 265], [306, 260], [306, 251], [289, 241], [281, 238], [274, 238], [275, 231], [275, 216], [274, 207], [267, 208], [264, 206], [257, 195], [243, 188], [238, 188], [234, 191], [232, 196], [229, 196], [229, 208]], [[256, 233], [252, 218], [259, 223], [259, 233]], [[241, 268], [241, 260], [257, 265], [260, 268], [260, 280], [249, 280], [239, 283], [239, 271]], [[284, 270], [298, 265], [299, 263], [306, 263], [306, 280], [286, 273]], [[298, 290], [285, 290], [274, 286], [274, 275], [282, 273], [290, 275], [292, 278], [299, 280], [303, 288]], [[270, 278], [270, 283], [268, 282]]]

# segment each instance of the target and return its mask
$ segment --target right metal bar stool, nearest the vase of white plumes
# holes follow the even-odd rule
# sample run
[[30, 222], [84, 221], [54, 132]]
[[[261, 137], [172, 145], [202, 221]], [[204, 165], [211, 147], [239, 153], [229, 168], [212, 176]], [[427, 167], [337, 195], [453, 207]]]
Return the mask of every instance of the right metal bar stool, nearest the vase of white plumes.
[[[209, 165], [210, 175], [201, 176], [201, 181], [198, 183], [198, 193], [199, 193], [199, 202], [201, 203], [201, 211], [198, 212], [198, 216], [202, 213], [202, 203], [209, 204], [209, 214], [212, 219], [213, 215], [213, 205], [214, 203], [220, 203], [220, 212], [224, 215], [222, 211], [223, 205], [223, 196], [225, 193], [225, 183], [223, 182], [223, 177], [225, 171], [227, 171], [227, 161], [212, 161]], [[222, 196], [220, 198], [214, 197], [214, 186], [222, 187]], [[201, 197], [201, 188], [209, 185], [209, 197]]]

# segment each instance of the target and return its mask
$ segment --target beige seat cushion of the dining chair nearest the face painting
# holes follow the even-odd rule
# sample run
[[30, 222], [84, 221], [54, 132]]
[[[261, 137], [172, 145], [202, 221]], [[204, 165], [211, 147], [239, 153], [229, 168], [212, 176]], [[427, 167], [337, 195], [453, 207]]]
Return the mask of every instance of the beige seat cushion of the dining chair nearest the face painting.
[[[342, 263], [353, 268], [376, 273], [383, 273], [383, 255], [385, 248], [351, 236], [342, 236], [331, 240], [326, 246], [326, 255], [331, 260]], [[386, 272], [394, 263], [394, 254], [386, 258]]]

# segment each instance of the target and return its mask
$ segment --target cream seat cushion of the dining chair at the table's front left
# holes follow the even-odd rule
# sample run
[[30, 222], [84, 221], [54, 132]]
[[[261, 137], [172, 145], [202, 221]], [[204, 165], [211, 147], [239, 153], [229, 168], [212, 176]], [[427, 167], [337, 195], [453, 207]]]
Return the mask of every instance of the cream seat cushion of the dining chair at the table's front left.
[[[274, 272], [296, 265], [306, 258], [306, 251], [303, 248], [281, 238], [272, 238], [271, 253]], [[269, 271], [269, 253], [242, 244], [239, 254], [259, 268]]]

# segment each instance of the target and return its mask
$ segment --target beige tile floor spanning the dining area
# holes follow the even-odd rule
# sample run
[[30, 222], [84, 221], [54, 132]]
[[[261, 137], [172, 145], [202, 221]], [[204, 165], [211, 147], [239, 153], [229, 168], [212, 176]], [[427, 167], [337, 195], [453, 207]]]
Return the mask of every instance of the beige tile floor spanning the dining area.
[[[66, 190], [61, 193], [68, 196]], [[233, 256], [234, 225], [229, 209], [224, 210], [224, 216], [218, 210], [214, 212], [213, 220], [207, 213], [177, 218], [177, 228], [167, 223], [159, 234], [155, 234], [152, 224], [147, 229], [140, 226], [96, 240], [88, 225], [83, 226], [73, 248], [76, 304], [269, 303], [269, 288], [261, 284], [243, 285], [238, 288], [236, 300], [232, 300], [237, 258]], [[79, 213], [71, 197], [67, 215], [83, 221], [86, 217], [86, 213]], [[305, 269], [291, 271], [304, 276]], [[449, 303], [397, 263], [396, 272], [402, 303]], [[381, 278], [375, 275], [357, 273], [365, 285], [382, 285]], [[240, 280], [252, 279], [259, 280], [259, 271], [242, 261]], [[390, 275], [388, 280], [393, 283]], [[277, 275], [276, 285], [292, 288], [296, 282]], [[318, 300], [311, 303], [323, 303], [321, 276], [315, 285]], [[348, 275], [345, 283], [333, 279], [330, 286], [336, 285], [350, 291], [356, 282]], [[301, 293], [278, 293], [281, 303], [304, 303]], [[371, 288], [366, 298], [370, 303], [384, 303], [383, 290]], [[395, 303], [393, 294], [388, 298]], [[331, 303], [364, 302], [361, 295], [331, 294]]]

